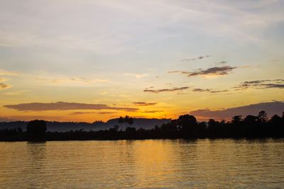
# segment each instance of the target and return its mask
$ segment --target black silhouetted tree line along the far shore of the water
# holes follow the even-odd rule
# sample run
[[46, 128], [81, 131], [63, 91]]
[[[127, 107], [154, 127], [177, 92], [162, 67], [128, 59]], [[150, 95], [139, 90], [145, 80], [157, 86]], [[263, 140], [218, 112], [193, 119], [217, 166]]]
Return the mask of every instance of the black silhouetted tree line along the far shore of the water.
[[[120, 125], [120, 126], [119, 126]], [[176, 120], [163, 125], [155, 125], [151, 130], [140, 128], [136, 130], [133, 118], [120, 117], [119, 125], [109, 130], [69, 132], [46, 132], [44, 120], [28, 122], [27, 131], [21, 128], [0, 130], [2, 141], [26, 140], [72, 140], [72, 139], [197, 139], [197, 138], [265, 138], [284, 137], [284, 113], [282, 117], [273, 115], [268, 118], [265, 111], [258, 115], [235, 115], [231, 120], [217, 121], [209, 119], [208, 122], [197, 122], [193, 115], [180, 115]], [[124, 130], [125, 128], [125, 130]]]

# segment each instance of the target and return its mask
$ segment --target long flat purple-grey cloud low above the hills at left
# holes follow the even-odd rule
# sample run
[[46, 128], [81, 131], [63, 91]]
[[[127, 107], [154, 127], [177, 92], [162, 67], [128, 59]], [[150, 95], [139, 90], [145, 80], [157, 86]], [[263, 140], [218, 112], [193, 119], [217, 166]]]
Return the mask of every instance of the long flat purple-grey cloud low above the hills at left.
[[12, 108], [19, 111], [45, 111], [45, 110], [124, 110], [137, 111], [138, 108], [111, 107], [106, 104], [89, 103], [19, 103], [15, 105], [4, 105], [5, 108]]

